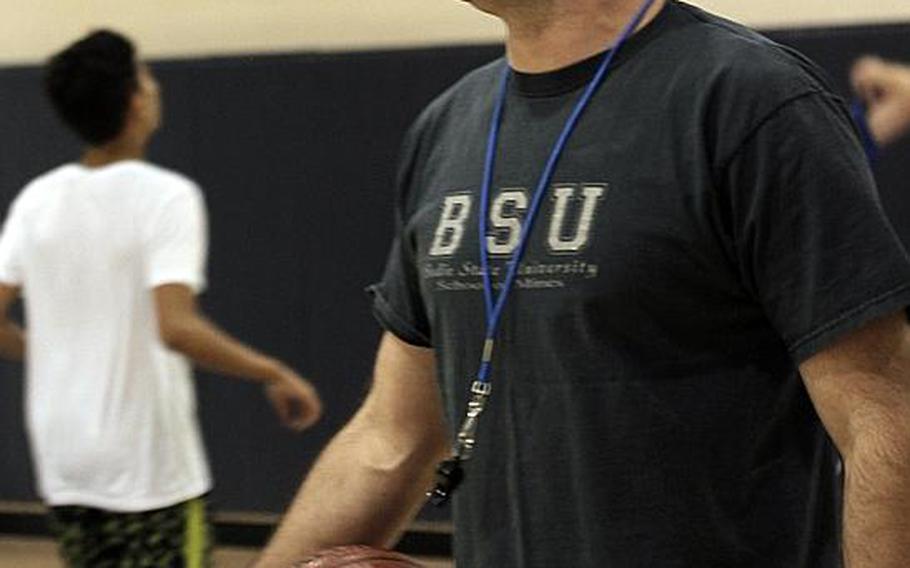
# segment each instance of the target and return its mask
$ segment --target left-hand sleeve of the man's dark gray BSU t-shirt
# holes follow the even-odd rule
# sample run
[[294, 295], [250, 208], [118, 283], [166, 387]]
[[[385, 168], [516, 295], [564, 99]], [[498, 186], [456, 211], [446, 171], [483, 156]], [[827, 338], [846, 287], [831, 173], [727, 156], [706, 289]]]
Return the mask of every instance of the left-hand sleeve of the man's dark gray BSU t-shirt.
[[373, 314], [379, 324], [402, 341], [431, 347], [432, 335], [420, 289], [415, 244], [407, 230], [406, 196], [414, 183], [416, 127], [408, 133], [398, 171], [398, 200], [395, 209], [395, 238], [386, 260], [382, 279], [367, 291], [373, 297]]

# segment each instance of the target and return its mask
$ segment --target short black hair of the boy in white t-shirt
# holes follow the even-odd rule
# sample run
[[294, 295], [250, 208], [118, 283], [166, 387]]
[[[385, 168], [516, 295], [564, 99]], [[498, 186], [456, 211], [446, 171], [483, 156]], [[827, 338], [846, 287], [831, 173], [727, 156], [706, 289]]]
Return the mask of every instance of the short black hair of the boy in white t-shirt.
[[130, 98], [138, 88], [136, 49], [110, 30], [80, 39], [47, 64], [44, 86], [66, 124], [93, 146], [123, 130]]

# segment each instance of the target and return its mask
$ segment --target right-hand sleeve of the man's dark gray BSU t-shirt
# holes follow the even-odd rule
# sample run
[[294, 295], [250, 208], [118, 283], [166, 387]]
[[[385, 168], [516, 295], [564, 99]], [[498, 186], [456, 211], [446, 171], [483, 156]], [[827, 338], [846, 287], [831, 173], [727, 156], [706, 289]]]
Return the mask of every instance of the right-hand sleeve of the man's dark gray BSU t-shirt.
[[724, 176], [743, 282], [797, 362], [910, 304], [910, 260], [839, 99], [782, 105]]

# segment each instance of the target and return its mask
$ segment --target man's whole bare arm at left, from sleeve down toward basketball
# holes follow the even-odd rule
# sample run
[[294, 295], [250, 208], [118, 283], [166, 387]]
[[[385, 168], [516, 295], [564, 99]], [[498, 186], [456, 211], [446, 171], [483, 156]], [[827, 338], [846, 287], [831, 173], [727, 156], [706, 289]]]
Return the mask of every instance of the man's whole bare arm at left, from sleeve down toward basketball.
[[313, 467], [259, 568], [286, 568], [334, 545], [395, 543], [448, 451], [431, 349], [386, 332], [373, 384]]

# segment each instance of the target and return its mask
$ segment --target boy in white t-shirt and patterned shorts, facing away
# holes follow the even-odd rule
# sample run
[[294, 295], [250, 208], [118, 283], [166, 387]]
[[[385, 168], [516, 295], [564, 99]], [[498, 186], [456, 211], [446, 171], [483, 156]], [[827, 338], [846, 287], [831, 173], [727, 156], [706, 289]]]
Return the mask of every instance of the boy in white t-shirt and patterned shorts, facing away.
[[[39, 492], [71, 566], [207, 564], [189, 361], [261, 382], [292, 428], [319, 397], [198, 311], [205, 204], [142, 161], [160, 95], [130, 41], [90, 34], [50, 60], [46, 88], [88, 149], [28, 184], [0, 237], [0, 355], [26, 359]], [[7, 315], [21, 290], [28, 333]]]

